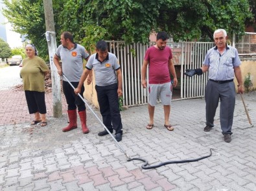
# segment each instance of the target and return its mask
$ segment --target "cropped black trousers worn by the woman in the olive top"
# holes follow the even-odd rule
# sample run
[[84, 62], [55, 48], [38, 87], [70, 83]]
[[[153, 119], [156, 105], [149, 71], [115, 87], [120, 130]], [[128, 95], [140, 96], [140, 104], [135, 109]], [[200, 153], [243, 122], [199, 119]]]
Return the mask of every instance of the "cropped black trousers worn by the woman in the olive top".
[[25, 97], [29, 108], [29, 114], [40, 112], [46, 114], [45, 92], [25, 90]]

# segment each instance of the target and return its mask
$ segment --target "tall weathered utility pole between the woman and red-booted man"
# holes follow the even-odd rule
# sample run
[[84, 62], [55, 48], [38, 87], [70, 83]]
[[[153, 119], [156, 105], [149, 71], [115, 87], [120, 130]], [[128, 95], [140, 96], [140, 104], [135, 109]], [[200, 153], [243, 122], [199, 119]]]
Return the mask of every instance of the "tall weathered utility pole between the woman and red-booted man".
[[46, 32], [45, 37], [48, 44], [49, 59], [51, 66], [51, 78], [52, 78], [52, 107], [53, 117], [62, 117], [62, 97], [60, 88], [60, 75], [57, 73], [57, 68], [53, 63], [53, 57], [56, 52], [56, 36], [54, 28], [54, 17], [52, 10], [52, 0], [43, 0], [43, 7], [45, 9], [45, 25]]

